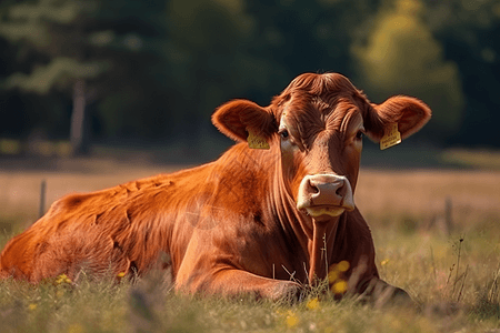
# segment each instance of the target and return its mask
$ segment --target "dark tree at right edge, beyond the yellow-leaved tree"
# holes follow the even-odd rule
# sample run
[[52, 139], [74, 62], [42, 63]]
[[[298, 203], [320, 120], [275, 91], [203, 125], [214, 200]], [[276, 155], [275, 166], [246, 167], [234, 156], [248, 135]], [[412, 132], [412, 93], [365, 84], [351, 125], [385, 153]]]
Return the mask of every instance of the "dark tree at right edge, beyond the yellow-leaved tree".
[[453, 144], [500, 147], [500, 3], [426, 0], [426, 20], [443, 47], [444, 57], [457, 63], [464, 92], [464, 113]]

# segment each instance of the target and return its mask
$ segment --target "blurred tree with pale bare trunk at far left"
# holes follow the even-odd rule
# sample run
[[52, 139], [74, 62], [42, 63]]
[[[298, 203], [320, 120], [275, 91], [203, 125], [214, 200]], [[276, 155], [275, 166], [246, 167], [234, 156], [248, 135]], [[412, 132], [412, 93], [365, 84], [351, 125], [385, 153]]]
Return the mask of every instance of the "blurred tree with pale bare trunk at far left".
[[[98, 77], [104, 63], [89, 61], [81, 41], [84, 22], [79, 19], [92, 7], [79, 1], [41, 0], [22, 2], [9, 8], [7, 20], [0, 23], [0, 34], [24, 48], [47, 56], [44, 63], [28, 74], [14, 73], [7, 79], [8, 88], [47, 94], [54, 85], [73, 85], [71, 143], [74, 153], [87, 151], [84, 131], [84, 80]], [[70, 26], [71, 29], [56, 29]]]

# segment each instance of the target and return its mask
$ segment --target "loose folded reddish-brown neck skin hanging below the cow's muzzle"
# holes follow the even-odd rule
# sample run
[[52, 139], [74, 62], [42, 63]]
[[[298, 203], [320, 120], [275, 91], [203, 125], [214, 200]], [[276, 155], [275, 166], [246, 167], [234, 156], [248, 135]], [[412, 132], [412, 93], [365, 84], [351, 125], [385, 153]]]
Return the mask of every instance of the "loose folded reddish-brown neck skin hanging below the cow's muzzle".
[[[328, 275], [328, 266], [332, 260], [339, 224], [344, 223], [346, 213], [330, 221], [316, 221], [299, 212], [293, 196], [287, 191], [281, 170], [274, 179], [272, 202], [273, 211], [290, 243], [299, 243], [309, 261], [308, 281], [311, 285], [322, 281]], [[338, 245], [338, 244], [337, 244]]]

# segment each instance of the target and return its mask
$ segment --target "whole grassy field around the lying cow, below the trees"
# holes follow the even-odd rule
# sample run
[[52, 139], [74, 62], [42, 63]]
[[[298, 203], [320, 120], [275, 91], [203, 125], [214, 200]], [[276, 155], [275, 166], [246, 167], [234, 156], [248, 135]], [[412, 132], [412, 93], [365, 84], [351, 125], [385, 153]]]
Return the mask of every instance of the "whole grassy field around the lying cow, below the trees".
[[[0, 170], [0, 246], [37, 219], [41, 180], [48, 206], [66, 193], [176, 169], [58, 163]], [[7, 280], [0, 332], [500, 332], [500, 171], [363, 169], [356, 201], [382, 279], [406, 289], [419, 310], [316, 299], [319, 291], [291, 306], [182, 296], [157, 272], [137, 283]]]

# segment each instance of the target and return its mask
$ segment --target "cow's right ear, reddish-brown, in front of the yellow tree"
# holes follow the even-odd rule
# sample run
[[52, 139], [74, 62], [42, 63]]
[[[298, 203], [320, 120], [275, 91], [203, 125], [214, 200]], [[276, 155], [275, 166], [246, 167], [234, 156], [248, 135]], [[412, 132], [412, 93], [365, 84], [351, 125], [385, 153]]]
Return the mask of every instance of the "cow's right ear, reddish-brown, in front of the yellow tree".
[[364, 128], [368, 137], [379, 142], [386, 129], [398, 124], [401, 139], [406, 139], [418, 132], [431, 118], [430, 108], [422, 101], [406, 97], [392, 97], [381, 104], [371, 104], [368, 117], [364, 119]]

